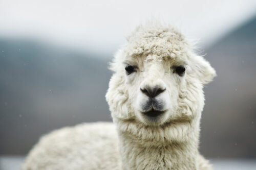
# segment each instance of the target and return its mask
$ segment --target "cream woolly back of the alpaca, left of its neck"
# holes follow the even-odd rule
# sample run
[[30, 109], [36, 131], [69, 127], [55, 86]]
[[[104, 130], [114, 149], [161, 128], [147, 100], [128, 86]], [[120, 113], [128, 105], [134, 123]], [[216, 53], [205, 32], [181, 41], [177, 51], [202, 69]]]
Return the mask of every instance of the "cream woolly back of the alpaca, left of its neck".
[[117, 141], [112, 123], [84, 123], [61, 128], [40, 138], [22, 170], [118, 169]]

